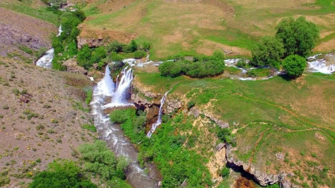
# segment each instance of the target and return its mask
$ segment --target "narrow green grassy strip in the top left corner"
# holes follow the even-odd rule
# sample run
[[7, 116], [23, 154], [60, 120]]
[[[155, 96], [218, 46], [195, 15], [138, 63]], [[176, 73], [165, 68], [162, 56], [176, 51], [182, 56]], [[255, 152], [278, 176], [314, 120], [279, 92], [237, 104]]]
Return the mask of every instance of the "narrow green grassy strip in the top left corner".
[[47, 6], [40, 0], [2, 0], [0, 1], [0, 7], [36, 17], [55, 25], [59, 24], [58, 15], [47, 11]]

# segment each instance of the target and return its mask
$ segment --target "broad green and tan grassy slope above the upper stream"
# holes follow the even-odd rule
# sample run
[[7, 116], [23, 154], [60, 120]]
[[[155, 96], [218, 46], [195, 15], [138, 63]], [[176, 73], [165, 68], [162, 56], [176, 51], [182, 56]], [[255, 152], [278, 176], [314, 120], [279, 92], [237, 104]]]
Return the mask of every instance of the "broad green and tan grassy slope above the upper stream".
[[103, 30], [134, 33], [136, 40], [152, 43], [152, 59], [211, 54], [215, 49], [249, 56], [259, 37], [274, 34], [280, 19], [299, 15], [314, 21], [321, 30], [315, 52], [331, 51], [335, 46], [335, 5], [331, 0], [148, 0], [133, 1], [118, 11], [114, 5], [94, 1], [85, 7], [90, 16], [82, 24], [83, 35]]

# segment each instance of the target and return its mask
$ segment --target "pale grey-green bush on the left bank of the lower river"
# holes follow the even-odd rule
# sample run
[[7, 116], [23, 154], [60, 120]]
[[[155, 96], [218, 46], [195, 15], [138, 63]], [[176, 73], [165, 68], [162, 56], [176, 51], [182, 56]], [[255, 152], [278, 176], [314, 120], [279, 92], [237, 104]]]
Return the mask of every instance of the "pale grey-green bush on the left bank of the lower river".
[[96, 140], [94, 144], [82, 144], [78, 150], [85, 161], [85, 170], [99, 174], [104, 179], [125, 178], [127, 159], [124, 157], [117, 159], [104, 141]]

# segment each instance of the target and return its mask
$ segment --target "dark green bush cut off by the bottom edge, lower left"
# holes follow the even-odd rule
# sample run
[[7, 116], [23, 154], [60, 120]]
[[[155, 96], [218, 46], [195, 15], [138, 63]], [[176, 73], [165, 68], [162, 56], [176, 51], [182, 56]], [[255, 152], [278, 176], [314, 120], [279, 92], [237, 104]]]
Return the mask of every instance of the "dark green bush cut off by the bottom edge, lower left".
[[81, 169], [69, 160], [50, 163], [48, 170], [38, 173], [29, 188], [96, 188], [81, 174]]

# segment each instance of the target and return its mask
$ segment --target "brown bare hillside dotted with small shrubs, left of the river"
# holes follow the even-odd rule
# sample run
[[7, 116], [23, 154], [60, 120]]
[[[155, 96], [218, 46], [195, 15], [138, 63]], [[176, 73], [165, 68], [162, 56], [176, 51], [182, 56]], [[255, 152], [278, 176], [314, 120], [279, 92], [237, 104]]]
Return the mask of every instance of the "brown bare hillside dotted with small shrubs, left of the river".
[[[97, 135], [80, 74], [43, 69], [0, 57], [0, 166], [18, 187], [57, 158], [76, 158], [78, 145]], [[72, 80], [72, 81], [71, 81]]]

